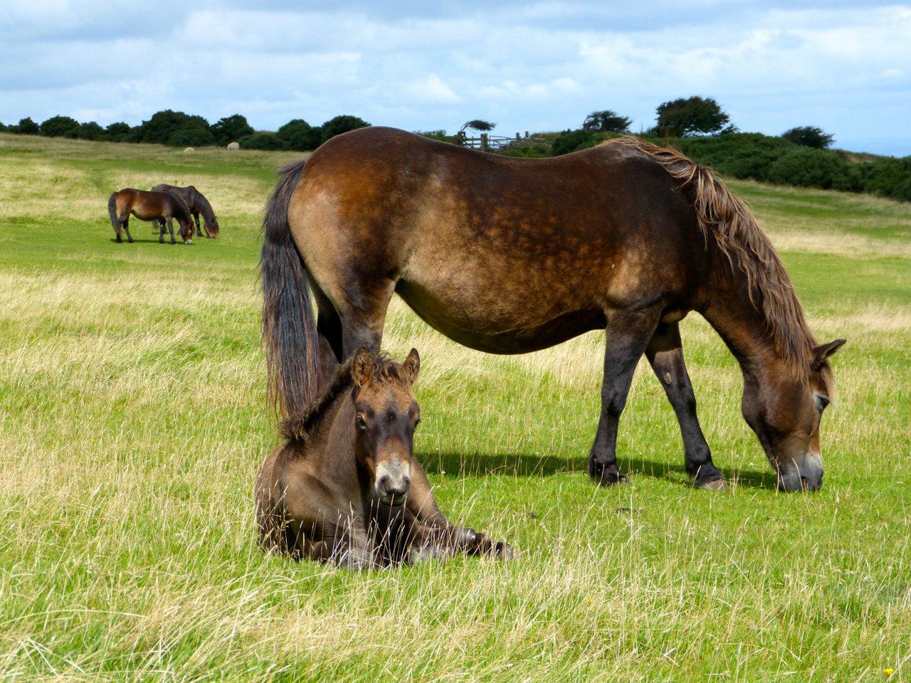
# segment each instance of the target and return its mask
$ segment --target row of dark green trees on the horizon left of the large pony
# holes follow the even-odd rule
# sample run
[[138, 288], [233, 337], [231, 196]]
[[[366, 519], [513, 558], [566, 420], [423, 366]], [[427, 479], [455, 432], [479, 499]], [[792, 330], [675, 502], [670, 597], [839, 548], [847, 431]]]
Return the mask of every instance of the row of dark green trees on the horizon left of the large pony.
[[75, 118], [57, 116], [50, 117], [41, 124], [37, 124], [31, 117], [21, 119], [15, 126], [7, 127], [0, 123], [0, 131], [43, 135], [48, 138], [148, 142], [170, 147], [224, 147], [230, 142], [238, 142], [241, 148], [309, 150], [319, 147], [335, 135], [369, 125], [363, 119], [353, 116], [334, 117], [316, 127], [302, 118], [295, 118], [279, 128], [278, 133], [257, 135], [246, 117], [240, 114], [220, 118], [218, 122], [210, 124], [203, 117], [166, 109], [132, 127], [123, 122], [101, 127], [95, 121], [79, 123]]

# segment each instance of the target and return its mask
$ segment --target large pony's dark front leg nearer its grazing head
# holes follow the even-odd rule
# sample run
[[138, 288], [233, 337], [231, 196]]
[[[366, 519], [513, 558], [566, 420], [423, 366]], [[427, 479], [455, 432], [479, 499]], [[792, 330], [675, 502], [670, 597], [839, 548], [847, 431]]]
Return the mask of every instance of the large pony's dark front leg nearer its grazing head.
[[652, 335], [645, 355], [651, 369], [658, 375], [674, 413], [677, 413], [683, 437], [684, 463], [687, 474], [695, 477], [693, 485], [710, 490], [722, 488], [724, 475], [711, 462], [709, 444], [705, 443], [696, 416], [696, 396], [683, 363], [680, 325], [676, 322], [661, 323]]

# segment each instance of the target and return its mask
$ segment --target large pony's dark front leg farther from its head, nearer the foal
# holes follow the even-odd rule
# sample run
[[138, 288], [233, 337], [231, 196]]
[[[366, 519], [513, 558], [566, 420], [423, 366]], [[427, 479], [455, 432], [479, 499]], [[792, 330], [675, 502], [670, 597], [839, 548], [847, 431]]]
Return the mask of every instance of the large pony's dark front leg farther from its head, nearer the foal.
[[617, 466], [617, 432], [626, 407], [633, 372], [658, 326], [660, 310], [611, 311], [608, 314], [601, 415], [589, 454], [589, 477], [602, 486], [629, 481]]

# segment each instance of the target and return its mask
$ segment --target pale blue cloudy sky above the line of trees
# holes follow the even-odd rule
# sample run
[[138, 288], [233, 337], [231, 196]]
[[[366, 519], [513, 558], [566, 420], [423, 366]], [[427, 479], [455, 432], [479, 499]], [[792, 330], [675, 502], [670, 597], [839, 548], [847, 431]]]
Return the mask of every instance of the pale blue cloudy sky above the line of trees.
[[911, 5], [876, 0], [4, 0], [0, 121], [131, 126], [162, 109], [258, 130], [340, 114], [454, 133], [633, 119], [713, 97], [743, 131], [821, 127], [911, 155]]

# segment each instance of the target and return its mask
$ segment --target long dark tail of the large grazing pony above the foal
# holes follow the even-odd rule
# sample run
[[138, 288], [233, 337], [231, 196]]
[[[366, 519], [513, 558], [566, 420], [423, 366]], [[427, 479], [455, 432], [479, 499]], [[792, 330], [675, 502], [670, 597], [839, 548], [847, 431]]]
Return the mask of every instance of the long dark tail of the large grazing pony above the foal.
[[319, 342], [310, 287], [288, 225], [288, 204], [303, 161], [281, 168], [262, 220], [262, 345], [269, 373], [268, 400], [275, 413], [300, 413], [322, 390]]

